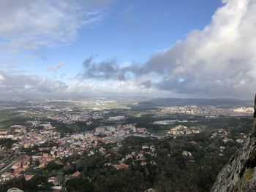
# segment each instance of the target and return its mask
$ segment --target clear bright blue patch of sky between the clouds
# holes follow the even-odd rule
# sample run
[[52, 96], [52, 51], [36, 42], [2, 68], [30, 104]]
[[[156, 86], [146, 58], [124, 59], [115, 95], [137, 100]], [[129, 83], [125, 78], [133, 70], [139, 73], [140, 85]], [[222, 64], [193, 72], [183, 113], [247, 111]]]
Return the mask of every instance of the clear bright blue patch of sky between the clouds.
[[[32, 54], [26, 70], [42, 72], [53, 64], [64, 62], [63, 73], [75, 74], [91, 55], [97, 60], [117, 58], [118, 63], [144, 63], [193, 29], [202, 29], [222, 2], [211, 1], [114, 1], [105, 7], [99, 23], [78, 30], [75, 42], [57, 47], [42, 47]], [[40, 58], [43, 58], [40, 60]], [[35, 63], [38, 65], [34, 65]]]

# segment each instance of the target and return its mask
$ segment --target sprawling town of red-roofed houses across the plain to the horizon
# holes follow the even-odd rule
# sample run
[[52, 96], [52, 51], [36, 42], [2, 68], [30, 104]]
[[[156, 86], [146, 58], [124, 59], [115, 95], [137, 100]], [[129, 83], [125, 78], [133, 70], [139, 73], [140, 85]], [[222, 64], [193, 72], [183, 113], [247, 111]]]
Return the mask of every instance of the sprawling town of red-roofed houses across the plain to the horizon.
[[[138, 107], [140, 101], [133, 102], [134, 106], [128, 103], [124, 107], [124, 103], [117, 106], [118, 101], [102, 100], [97, 101], [97, 108], [91, 107], [92, 102], [87, 107], [79, 105], [79, 102], [75, 101], [75, 108], [70, 107], [70, 103], [64, 104], [64, 101], [58, 101], [54, 105], [50, 101], [50, 107], [39, 106], [37, 101], [32, 102], [32, 106], [37, 107], [31, 107], [31, 102], [22, 107], [16, 104], [1, 105], [1, 113], [16, 115], [13, 119], [1, 121], [2, 124], [6, 123], [0, 130], [1, 185], [20, 178], [29, 182], [42, 170], [60, 169], [59, 172], [49, 172], [45, 183], [37, 187], [67, 190], [71, 188], [68, 181], [80, 178], [83, 169], [72, 169], [69, 172], [66, 169], [74, 164], [75, 159], [79, 161], [83, 156], [102, 156], [102, 166], [113, 170], [113, 174], [114, 170], [119, 172], [133, 169], [137, 165], [144, 167], [143, 169], [148, 166], [157, 167], [159, 142], [178, 142], [178, 138], [193, 138], [208, 132], [210, 134], [205, 139], [212, 142], [211, 147], [216, 149], [214, 153], [222, 157], [227, 155], [226, 147], [229, 148], [230, 143], [234, 143], [235, 150], [244, 142], [249, 132], [232, 134], [236, 130], [225, 130], [219, 128], [218, 124], [212, 131], [206, 131], [208, 122], [219, 118], [246, 118], [252, 115], [252, 107], [241, 106], [162, 107], [162, 110], [159, 107], [152, 110], [148, 106], [148, 110], [132, 110], [133, 107]], [[113, 103], [114, 107], [111, 106]], [[147, 115], [153, 114], [154, 118], [140, 122]], [[132, 147], [132, 142], [127, 142], [129, 139], [132, 142], [137, 139], [144, 142]], [[217, 140], [219, 143], [216, 143]], [[197, 145], [195, 139], [189, 143]], [[170, 156], [171, 153], [165, 155]], [[199, 161], [189, 148], [181, 150], [180, 155], [187, 158], [189, 164]], [[92, 178], [88, 178], [90, 183]], [[144, 190], [150, 187], [154, 185], [148, 185]]]

